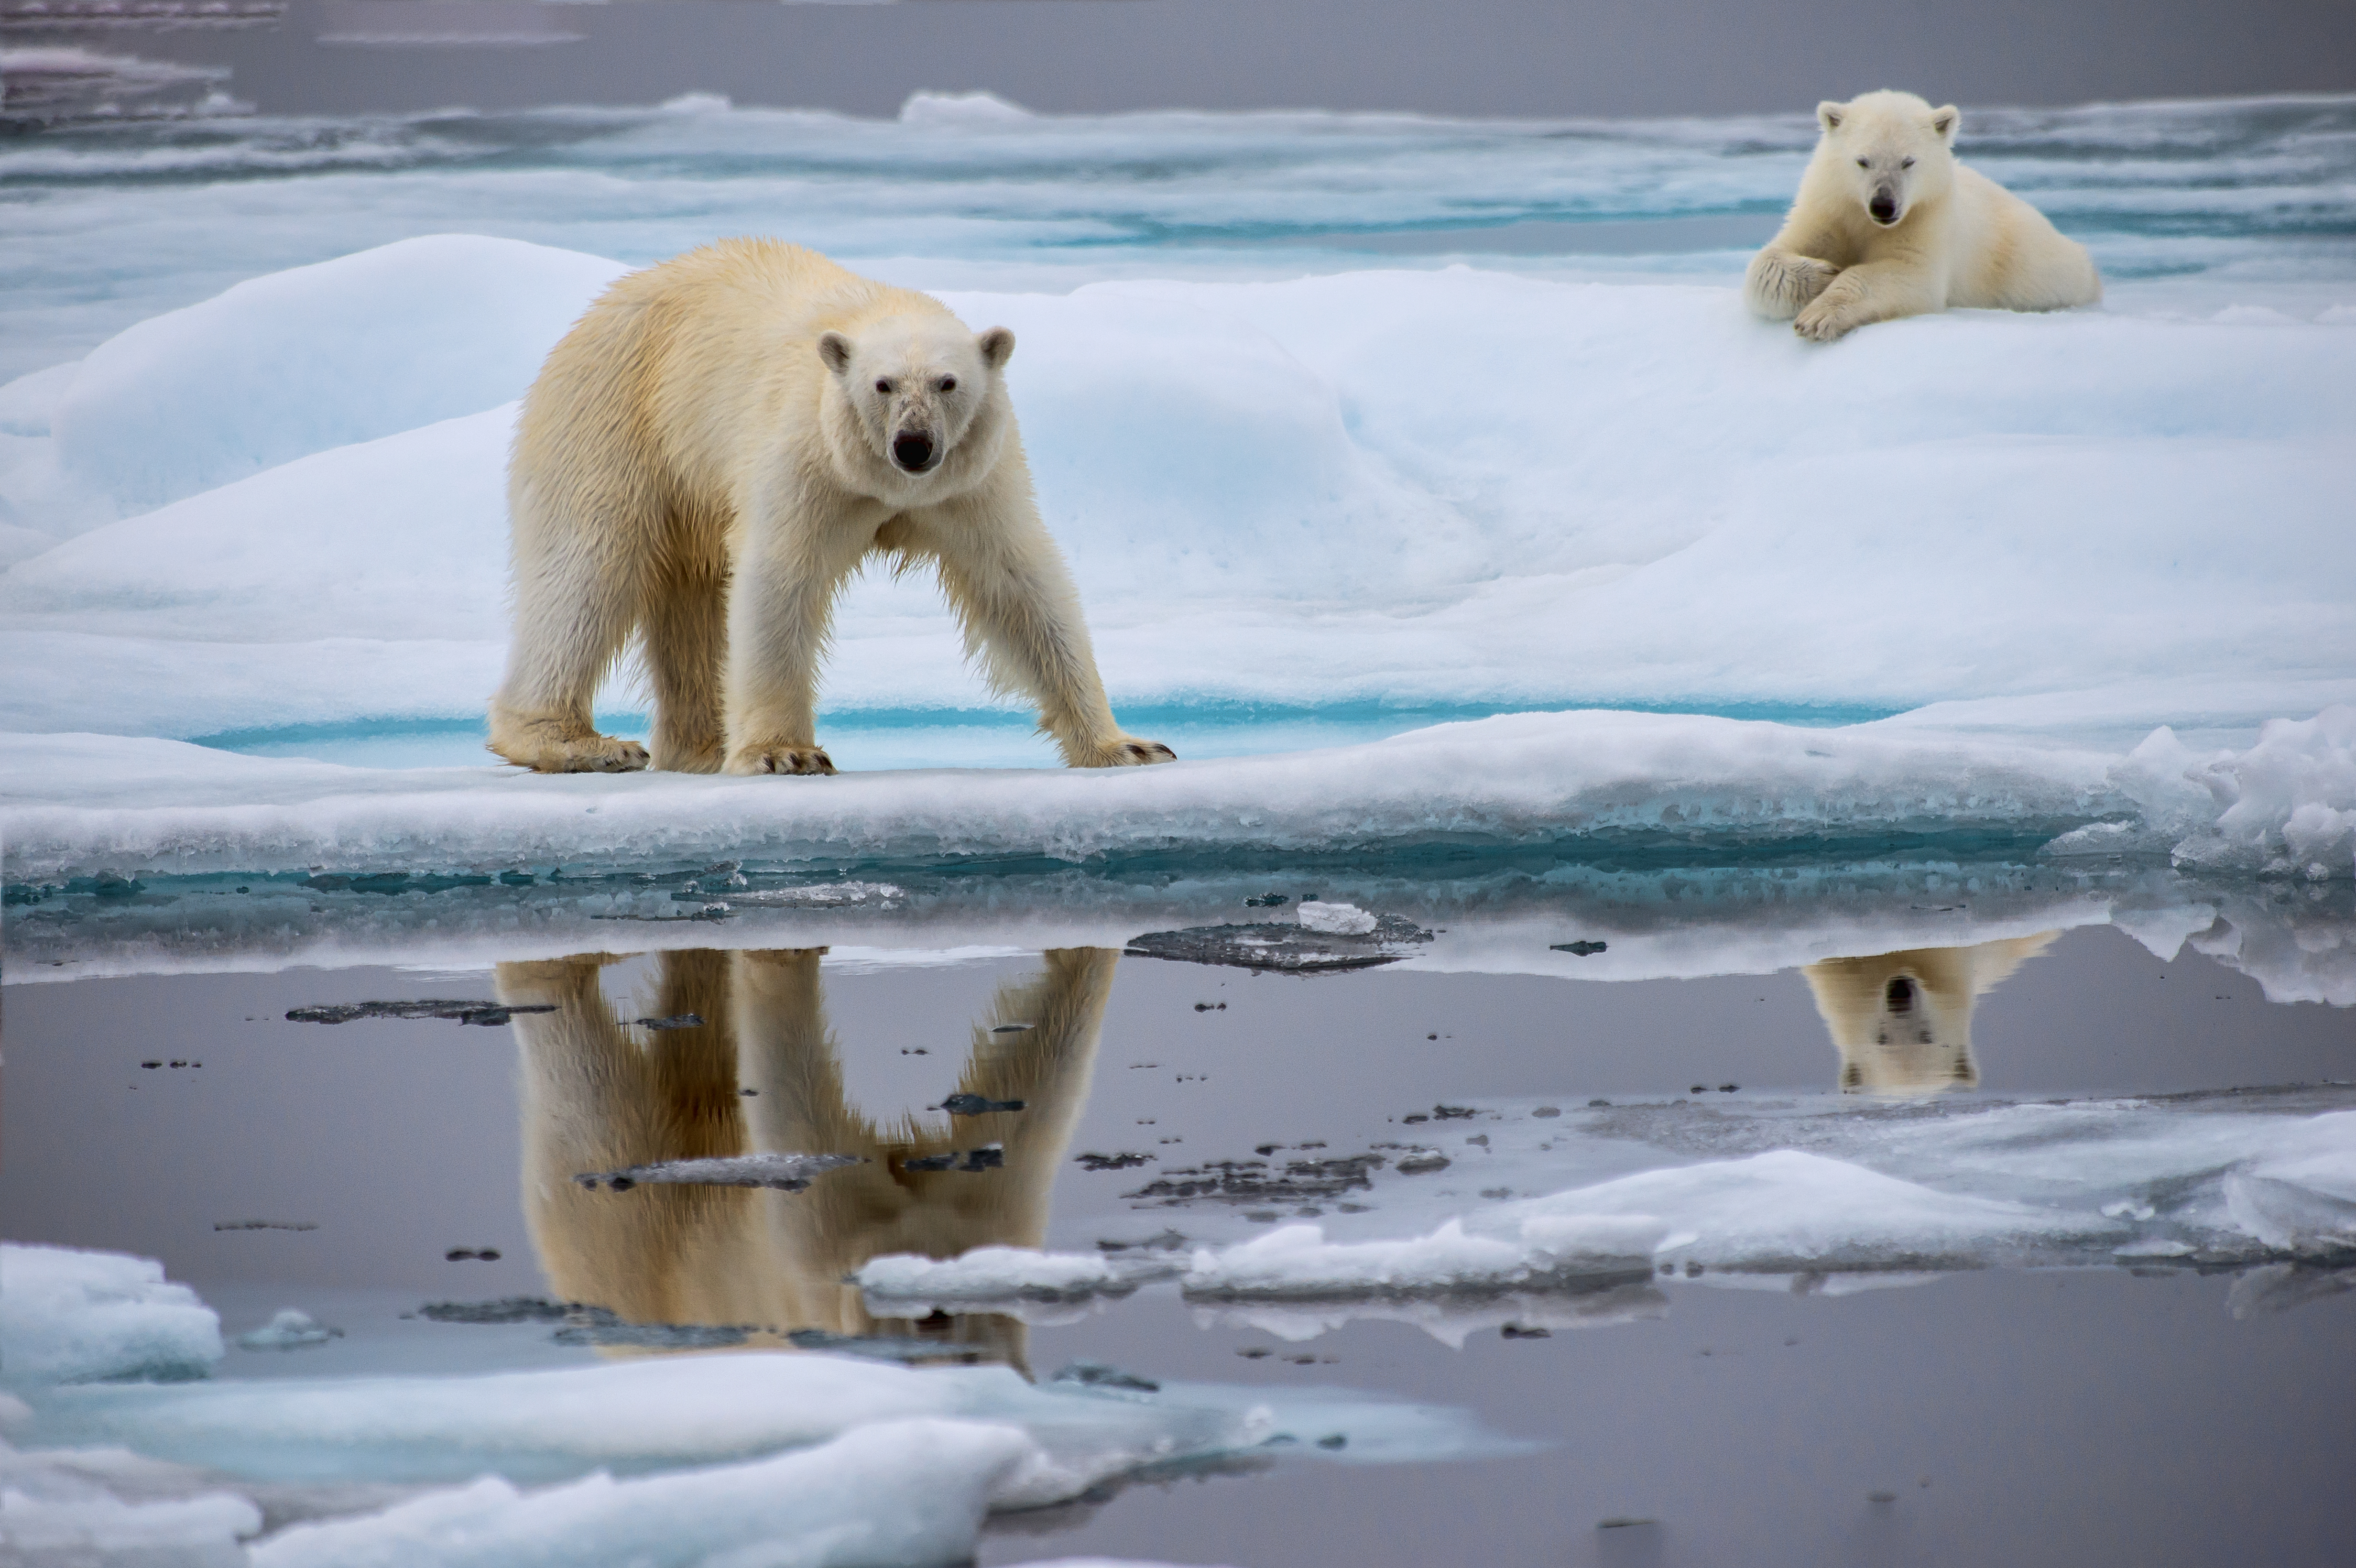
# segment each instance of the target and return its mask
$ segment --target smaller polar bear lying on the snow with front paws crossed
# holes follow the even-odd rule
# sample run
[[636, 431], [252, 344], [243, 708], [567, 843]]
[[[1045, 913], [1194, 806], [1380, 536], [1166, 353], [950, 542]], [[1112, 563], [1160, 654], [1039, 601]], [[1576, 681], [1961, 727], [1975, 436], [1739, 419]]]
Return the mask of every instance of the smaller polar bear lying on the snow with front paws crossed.
[[1828, 344], [1925, 311], [2059, 311], [2102, 299], [2085, 245], [1955, 162], [1955, 106], [1911, 92], [1816, 104], [1816, 155], [1743, 299]]

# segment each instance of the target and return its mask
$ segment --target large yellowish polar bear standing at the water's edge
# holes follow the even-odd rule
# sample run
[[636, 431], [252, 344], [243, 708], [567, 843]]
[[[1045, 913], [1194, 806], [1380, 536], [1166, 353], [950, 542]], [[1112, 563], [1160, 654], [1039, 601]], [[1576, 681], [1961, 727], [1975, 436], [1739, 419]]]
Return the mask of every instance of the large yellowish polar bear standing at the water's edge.
[[490, 749], [629, 772], [589, 702], [631, 633], [653, 765], [834, 772], [818, 662], [872, 553], [931, 563], [990, 685], [1039, 704], [1072, 768], [1171, 760], [1105, 704], [1079, 596], [1039, 520], [1006, 327], [818, 252], [723, 240], [629, 273], [549, 353], [509, 461], [514, 643]]

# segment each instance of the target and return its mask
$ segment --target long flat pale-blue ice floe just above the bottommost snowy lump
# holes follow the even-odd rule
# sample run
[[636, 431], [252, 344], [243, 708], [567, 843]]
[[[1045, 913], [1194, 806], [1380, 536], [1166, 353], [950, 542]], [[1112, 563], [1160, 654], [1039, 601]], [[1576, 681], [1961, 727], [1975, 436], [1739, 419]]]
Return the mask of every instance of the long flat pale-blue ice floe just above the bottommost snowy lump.
[[[1350, 1391], [1162, 1384], [1152, 1396], [1025, 1382], [1004, 1366], [907, 1368], [721, 1351], [481, 1377], [75, 1384], [28, 1391], [42, 1446], [120, 1443], [254, 1481], [573, 1481], [598, 1469], [735, 1464], [895, 1420], [1018, 1427], [1037, 1455], [992, 1490], [1039, 1507], [1143, 1467], [1251, 1457], [1270, 1439], [1350, 1436], [1350, 1460], [1491, 1443], [1463, 1413]], [[1279, 1443], [1282, 1448], [1282, 1443]]]

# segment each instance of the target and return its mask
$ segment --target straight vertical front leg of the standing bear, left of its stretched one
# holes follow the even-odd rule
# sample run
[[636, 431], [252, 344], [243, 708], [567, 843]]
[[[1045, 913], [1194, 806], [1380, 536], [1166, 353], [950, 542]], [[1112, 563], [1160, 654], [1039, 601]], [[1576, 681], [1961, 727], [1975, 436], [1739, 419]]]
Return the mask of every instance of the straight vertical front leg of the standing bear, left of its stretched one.
[[818, 659], [848, 565], [770, 544], [737, 553], [728, 586], [728, 760], [721, 772], [834, 772], [818, 746]]

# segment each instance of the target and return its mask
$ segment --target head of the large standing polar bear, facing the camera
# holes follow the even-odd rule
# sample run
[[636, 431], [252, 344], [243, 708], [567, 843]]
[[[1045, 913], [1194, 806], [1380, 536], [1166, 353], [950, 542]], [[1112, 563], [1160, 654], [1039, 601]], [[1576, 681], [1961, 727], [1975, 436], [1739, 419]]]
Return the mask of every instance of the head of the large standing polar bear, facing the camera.
[[[1006, 428], [999, 372], [1015, 351], [1006, 327], [968, 332], [954, 315], [884, 315], [855, 332], [820, 332], [829, 419], [858, 431], [860, 457], [848, 466], [881, 466], [884, 478], [907, 480], [966, 471], [987, 473]], [[839, 452], [836, 461], [853, 459]]]

